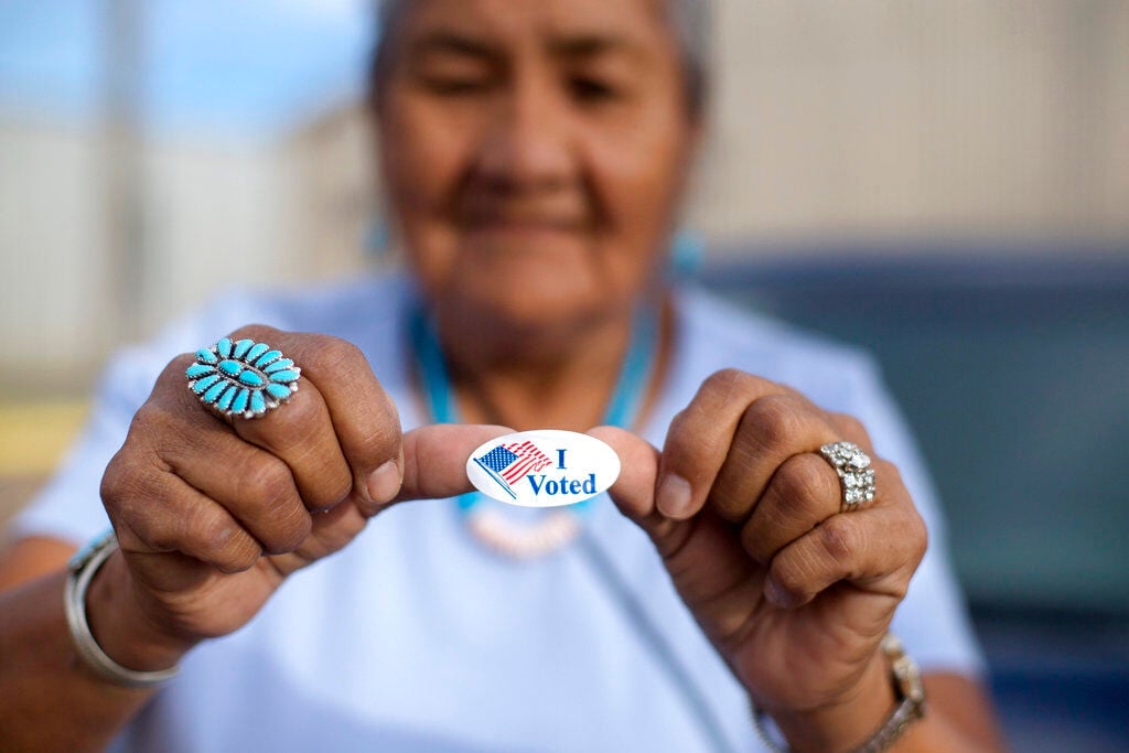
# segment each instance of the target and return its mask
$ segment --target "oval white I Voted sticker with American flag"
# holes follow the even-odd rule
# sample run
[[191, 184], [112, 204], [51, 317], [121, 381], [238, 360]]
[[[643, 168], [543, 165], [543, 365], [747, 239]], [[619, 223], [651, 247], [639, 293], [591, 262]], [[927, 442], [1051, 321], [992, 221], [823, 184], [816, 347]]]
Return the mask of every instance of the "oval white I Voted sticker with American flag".
[[575, 505], [606, 491], [620, 458], [595, 437], [560, 429], [519, 431], [491, 439], [466, 461], [474, 488], [522, 507]]

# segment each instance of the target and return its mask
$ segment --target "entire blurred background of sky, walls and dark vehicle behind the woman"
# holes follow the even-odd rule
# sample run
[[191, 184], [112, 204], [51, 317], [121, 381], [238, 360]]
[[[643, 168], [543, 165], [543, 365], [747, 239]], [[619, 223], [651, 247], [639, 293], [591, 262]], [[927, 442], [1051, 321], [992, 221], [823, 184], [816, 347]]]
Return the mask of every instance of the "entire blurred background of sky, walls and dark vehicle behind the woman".
[[[394, 261], [371, 0], [0, 0], [0, 527], [100, 365]], [[697, 274], [866, 345], [1018, 751], [1129, 750], [1129, 2], [716, 0]]]

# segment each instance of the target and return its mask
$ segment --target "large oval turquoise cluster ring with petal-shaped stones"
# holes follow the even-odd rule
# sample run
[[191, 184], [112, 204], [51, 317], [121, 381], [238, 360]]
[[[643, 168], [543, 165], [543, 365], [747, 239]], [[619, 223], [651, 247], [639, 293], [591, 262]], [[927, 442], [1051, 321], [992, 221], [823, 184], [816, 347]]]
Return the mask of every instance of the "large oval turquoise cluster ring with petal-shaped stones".
[[301, 369], [265, 342], [224, 338], [198, 350], [184, 375], [204, 405], [227, 417], [253, 419], [298, 392]]

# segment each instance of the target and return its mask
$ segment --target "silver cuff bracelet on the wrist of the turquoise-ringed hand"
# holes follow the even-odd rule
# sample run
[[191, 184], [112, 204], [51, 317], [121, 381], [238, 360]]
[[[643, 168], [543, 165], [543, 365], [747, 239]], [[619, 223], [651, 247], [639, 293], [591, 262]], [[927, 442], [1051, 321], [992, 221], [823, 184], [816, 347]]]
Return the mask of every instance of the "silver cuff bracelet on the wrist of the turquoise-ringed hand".
[[102, 564], [117, 549], [117, 537], [110, 528], [80, 549], [67, 563], [67, 585], [63, 588], [63, 610], [75, 649], [82, 662], [99, 677], [126, 688], [163, 685], [177, 675], [180, 665], [158, 672], [139, 672], [123, 667], [110, 658], [90, 632], [86, 619], [86, 592]]

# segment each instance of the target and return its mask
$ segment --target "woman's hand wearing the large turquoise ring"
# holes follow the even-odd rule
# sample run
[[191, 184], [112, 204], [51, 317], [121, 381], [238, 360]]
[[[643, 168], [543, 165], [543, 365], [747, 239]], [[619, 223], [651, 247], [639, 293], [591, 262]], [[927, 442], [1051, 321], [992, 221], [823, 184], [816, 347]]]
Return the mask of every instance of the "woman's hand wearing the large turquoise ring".
[[200, 640], [237, 630], [287, 576], [340, 550], [388, 504], [466, 491], [466, 453], [505, 432], [447, 426], [402, 436], [355, 345], [264, 326], [231, 338], [292, 358], [298, 392], [261, 418], [228, 420], [187, 389], [193, 356], [181, 356], [103, 479], [121, 553], [95, 578], [87, 610], [96, 640], [131, 668], [169, 666]]

